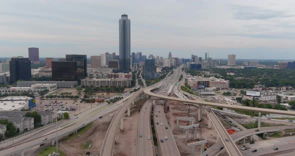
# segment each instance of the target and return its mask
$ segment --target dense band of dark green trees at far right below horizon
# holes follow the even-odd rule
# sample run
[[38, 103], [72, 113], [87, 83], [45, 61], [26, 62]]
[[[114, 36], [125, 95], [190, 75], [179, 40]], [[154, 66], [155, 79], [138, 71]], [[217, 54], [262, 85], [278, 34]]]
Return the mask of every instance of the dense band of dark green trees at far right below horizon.
[[[219, 73], [225, 80], [230, 80], [229, 86], [233, 88], [253, 88], [255, 84], [262, 84], [265, 87], [295, 87], [295, 70], [290, 69], [214, 68], [212, 72]], [[226, 75], [226, 72], [233, 72], [235, 75]]]

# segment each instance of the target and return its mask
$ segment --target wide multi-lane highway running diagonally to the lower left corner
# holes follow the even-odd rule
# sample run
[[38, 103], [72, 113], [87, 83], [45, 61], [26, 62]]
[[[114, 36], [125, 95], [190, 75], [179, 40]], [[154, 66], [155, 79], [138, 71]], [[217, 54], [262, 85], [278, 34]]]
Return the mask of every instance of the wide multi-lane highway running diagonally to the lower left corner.
[[[122, 104], [122, 102], [129, 97], [130, 95], [116, 103], [96, 107], [94, 110], [91, 110], [91, 112], [82, 114], [81, 116], [78, 115], [78, 118], [72, 119], [71, 122], [66, 123], [62, 127], [58, 128], [58, 137], [60, 138], [61, 136], [74, 132], [75, 130], [98, 119], [100, 116], [107, 115], [110, 112], [117, 110], [120, 107], [120, 104]], [[44, 132], [42, 132], [41, 134], [37, 134], [36, 136], [33, 136], [27, 140], [17, 142], [16, 144], [13, 144], [13, 146], [1, 149], [0, 156], [8, 156], [14, 153], [18, 153], [21, 150], [25, 151], [25, 149], [29, 149], [44, 142], [50, 142], [51, 140], [56, 138], [55, 128], [50, 128], [49, 131], [45, 130], [45, 132], [47, 132], [47, 134], [44, 134]], [[42, 141], [44, 137], [46, 137], [47, 140]]]

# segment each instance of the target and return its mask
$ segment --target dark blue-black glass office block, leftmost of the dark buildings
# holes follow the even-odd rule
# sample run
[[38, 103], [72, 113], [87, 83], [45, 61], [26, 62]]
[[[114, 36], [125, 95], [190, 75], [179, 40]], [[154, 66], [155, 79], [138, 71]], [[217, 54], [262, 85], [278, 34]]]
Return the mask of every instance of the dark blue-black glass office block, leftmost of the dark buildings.
[[11, 58], [9, 62], [10, 82], [31, 79], [30, 60], [23, 57]]

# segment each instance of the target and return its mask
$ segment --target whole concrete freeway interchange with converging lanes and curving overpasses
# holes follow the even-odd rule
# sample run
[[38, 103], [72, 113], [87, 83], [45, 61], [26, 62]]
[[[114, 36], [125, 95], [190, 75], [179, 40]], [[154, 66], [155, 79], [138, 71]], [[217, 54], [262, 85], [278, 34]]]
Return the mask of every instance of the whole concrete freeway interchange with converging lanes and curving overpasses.
[[[101, 116], [115, 111], [115, 115], [112, 118], [104, 136], [99, 154], [100, 156], [113, 155], [114, 142], [116, 138], [115, 136], [118, 129], [123, 129], [124, 117], [130, 115], [130, 107], [132, 107], [134, 101], [145, 96], [148, 96], [148, 98], [142, 105], [138, 119], [136, 120], [136, 153], [134, 153], [134, 155], [156, 155], [156, 153], [160, 153], [160, 155], [180, 155], [174, 135], [172, 133], [172, 129], [165, 117], [165, 111], [167, 110], [170, 100], [190, 103], [193, 106], [197, 106], [199, 110], [206, 112], [206, 115], [208, 116], [214, 129], [220, 137], [220, 140], [218, 140], [211, 148], [208, 148], [207, 151], [201, 153], [202, 155], [217, 155], [220, 153], [221, 147], [224, 147], [223, 150], [226, 150], [227, 155], [249, 155], [249, 152], [241, 152], [235, 142], [243, 139], [246, 136], [261, 132], [278, 131], [283, 128], [295, 128], [295, 126], [292, 125], [286, 127], [264, 127], [261, 128], [259, 132], [255, 131], [255, 129], [248, 129], [237, 132], [233, 135], [229, 135], [215, 115], [214, 111], [211, 110], [210, 106], [287, 115], [295, 115], [295, 112], [257, 107], [246, 107], [239, 105], [227, 105], [203, 101], [195, 95], [183, 92], [180, 89], [178, 90], [178, 85], [174, 86], [175, 82], [178, 83], [178, 78], [181, 73], [181, 67], [182, 66], [174, 69], [173, 73], [168, 74], [164, 79], [154, 85], [140, 88], [136, 92], [129, 94], [116, 103], [94, 107], [90, 110], [87, 110], [86, 112], [79, 114], [77, 119], [72, 119], [67, 123], [63, 123], [62, 126], [57, 129], [58, 137], [60, 138], [62, 136], [66, 136], [72, 132], [75, 132], [77, 129], [87, 125], [88, 123], [96, 119], [99, 119]], [[174, 93], [178, 97], [169, 96], [171, 93]], [[153, 125], [150, 121], [151, 118], [153, 119]], [[155, 129], [155, 136], [153, 136], [152, 133], [152, 126]], [[54, 125], [50, 126], [51, 129], [47, 128], [35, 132], [35, 135], [33, 136], [23, 136], [22, 140], [18, 140], [16, 141], [16, 143], [14, 142], [12, 145], [8, 145], [2, 148], [0, 151], [0, 156], [9, 156], [15, 153], [25, 155], [25, 150], [28, 148], [43, 144], [44, 142], [51, 141], [52, 143], [54, 143], [53, 141], [55, 141], [54, 139], [56, 137], [56, 133], [55, 128], [53, 127]], [[47, 139], [43, 141], [42, 138], [44, 137], [46, 137]], [[157, 150], [155, 150], [154, 147], [155, 141], [158, 144]], [[289, 146], [288, 148], [285, 147], [286, 150], [290, 148], [291, 147]], [[265, 153], [267, 152], [259, 151], [257, 152], [257, 155], [263, 155]]]

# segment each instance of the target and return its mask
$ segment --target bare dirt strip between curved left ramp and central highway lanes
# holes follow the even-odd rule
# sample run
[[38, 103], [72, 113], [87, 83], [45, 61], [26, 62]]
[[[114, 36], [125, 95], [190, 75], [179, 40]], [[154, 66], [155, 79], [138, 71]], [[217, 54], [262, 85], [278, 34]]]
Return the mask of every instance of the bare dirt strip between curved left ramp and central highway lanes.
[[116, 135], [116, 144], [114, 146], [114, 156], [136, 155], [136, 137], [138, 110], [142, 107], [146, 99], [140, 99], [135, 102], [135, 107], [131, 109], [130, 116], [124, 117], [124, 131], [118, 129]]

